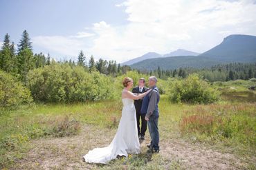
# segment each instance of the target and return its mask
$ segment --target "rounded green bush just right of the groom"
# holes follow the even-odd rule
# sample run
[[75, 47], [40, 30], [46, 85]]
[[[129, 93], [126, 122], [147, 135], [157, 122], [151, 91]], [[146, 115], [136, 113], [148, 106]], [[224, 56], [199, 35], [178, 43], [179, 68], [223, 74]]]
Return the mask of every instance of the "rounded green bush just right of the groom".
[[190, 74], [185, 79], [170, 80], [169, 96], [175, 103], [214, 103], [219, 100], [219, 94], [197, 74]]

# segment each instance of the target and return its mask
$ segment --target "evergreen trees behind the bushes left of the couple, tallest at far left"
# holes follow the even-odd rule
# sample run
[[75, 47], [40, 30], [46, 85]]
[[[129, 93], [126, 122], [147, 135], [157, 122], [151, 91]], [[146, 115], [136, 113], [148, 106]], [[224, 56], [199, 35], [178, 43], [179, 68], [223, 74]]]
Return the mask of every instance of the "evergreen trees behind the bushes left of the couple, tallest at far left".
[[21, 40], [15, 49], [15, 43], [10, 41], [10, 35], [6, 34], [3, 39], [3, 45], [0, 50], [0, 69], [17, 77], [25, 85], [27, 85], [27, 78], [29, 70], [51, 65], [51, 63], [68, 63], [71, 67], [82, 66], [86, 72], [98, 71], [102, 74], [118, 76], [125, 74], [131, 68], [127, 65], [121, 66], [116, 61], [107, 61], [99, 59], [95, 61], [94, 57], [89, 58], [89, 63], [86, 62], [86, 56], [81, 50], [77, 56], [77, 61], [55, 61], [48, 53], [33, 54], [32, 41], [28, 32], [24, 30], [21, 35]]

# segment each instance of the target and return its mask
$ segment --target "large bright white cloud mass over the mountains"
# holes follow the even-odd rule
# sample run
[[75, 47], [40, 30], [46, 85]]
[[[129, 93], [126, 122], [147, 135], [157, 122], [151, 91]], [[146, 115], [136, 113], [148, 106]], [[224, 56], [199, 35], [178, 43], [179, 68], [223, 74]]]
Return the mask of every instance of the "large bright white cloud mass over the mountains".
[[204, 52], [229, 34], [256, 34], [253, 0], [127, 0], [116, 6], [124, 8], [129, 23], [100, 21], [75, 36], [37, 36], [33, 43], [60, 54], [84, 50], [97, 59], [122, 62], [152, 51]]

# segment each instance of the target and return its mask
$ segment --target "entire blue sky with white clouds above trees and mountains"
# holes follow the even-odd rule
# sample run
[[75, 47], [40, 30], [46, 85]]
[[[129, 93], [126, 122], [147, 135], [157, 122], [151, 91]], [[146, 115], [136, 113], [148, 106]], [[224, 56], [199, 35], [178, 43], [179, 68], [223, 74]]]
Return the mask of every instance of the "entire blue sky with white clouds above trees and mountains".
[[57, 61], [128, 61], [147, 52], [205, 52], [230, 34], [256, 36], [256, 0], [0, 0], [0, 43], [19, 43]]

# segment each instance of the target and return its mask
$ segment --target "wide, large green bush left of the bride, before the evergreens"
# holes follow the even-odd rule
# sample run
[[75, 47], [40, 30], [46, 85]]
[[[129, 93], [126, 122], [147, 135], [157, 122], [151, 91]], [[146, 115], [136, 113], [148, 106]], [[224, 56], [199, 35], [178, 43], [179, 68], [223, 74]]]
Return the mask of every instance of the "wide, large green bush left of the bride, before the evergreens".
[[54, 63], [31, 70], [28, 86], [35, 100], [73, 103], [111, 98], [111, 78], [83, 67]]

